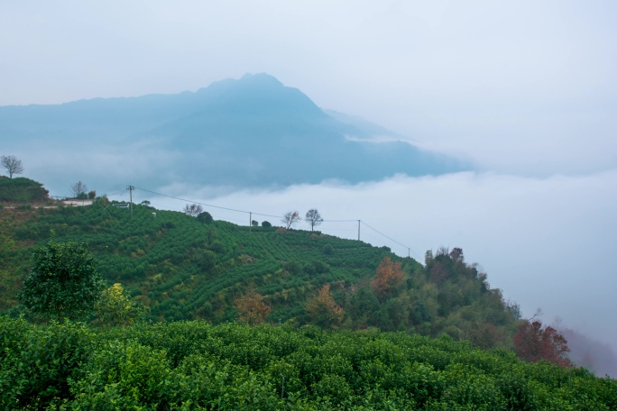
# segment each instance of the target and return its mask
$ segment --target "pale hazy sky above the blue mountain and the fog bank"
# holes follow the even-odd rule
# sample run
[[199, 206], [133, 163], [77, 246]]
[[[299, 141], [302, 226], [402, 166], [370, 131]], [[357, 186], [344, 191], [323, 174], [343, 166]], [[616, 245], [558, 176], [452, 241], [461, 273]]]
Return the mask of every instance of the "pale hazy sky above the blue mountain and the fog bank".
[[264, 71], [487, 169], [587, 173], [617, 167], [615, 21], [612, 0], [5, 1], [0, 105]]

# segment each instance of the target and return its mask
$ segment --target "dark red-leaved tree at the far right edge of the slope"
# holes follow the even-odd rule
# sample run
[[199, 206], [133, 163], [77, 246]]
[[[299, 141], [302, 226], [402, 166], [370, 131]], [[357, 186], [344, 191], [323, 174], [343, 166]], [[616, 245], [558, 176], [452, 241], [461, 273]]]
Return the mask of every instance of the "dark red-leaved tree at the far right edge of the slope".
[[516, 354], [523, 361], [536, 362], [540, 360], [552, 362], [562, 367], [569, 367], [571, 362], [566, 353], [566, 338], [555, 328], [542, 328], [539, 320], [525, 321], [514, 335]]

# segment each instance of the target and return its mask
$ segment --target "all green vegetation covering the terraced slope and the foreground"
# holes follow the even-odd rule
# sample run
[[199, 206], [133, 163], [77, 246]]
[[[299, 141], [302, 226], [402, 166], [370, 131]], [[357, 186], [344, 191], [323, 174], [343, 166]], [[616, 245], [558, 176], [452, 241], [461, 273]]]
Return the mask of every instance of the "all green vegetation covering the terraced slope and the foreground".
[[461, 249], [113, 205], [0, 214], [0, 408], [617, 409]]

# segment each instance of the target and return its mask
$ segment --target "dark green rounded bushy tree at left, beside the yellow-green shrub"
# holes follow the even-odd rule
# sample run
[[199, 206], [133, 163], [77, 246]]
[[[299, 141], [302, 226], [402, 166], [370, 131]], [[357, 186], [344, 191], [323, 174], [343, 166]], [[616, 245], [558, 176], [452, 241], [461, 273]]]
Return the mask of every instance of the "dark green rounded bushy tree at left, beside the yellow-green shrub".
[[54, 242], [32, 253], [32, 270], [19, 299], [36, 314], [84, 319], [94, 311], [105, 283], [86, 244]]

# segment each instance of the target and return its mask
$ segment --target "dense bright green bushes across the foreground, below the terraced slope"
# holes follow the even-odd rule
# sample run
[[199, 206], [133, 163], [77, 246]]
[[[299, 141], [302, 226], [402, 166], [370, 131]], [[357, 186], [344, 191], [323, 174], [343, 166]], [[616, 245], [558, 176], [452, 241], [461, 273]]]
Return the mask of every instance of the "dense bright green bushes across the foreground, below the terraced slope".
[[3, 409], [594, 409], [617, 381], [408, 333], [0, 317]]

